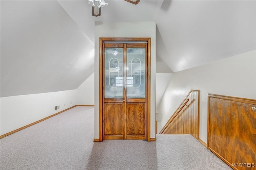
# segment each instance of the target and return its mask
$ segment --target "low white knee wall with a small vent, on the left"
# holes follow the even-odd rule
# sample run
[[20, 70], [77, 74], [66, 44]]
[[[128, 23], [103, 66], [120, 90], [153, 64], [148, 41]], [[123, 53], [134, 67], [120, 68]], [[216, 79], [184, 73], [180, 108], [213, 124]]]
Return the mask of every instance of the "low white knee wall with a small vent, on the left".
[[[76, 104], [77, 90], [1, 98], [0, 134], [6, 134]], [[58, 105], [60, 109], [55, 111], [55, 106]]]

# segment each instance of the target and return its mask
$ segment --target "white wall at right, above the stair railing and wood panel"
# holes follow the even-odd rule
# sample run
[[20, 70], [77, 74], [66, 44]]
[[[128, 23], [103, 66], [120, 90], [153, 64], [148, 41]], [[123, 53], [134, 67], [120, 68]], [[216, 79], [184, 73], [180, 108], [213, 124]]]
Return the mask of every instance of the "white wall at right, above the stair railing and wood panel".
[[199, 137], [207, 143], [209, 93], [256, 99], [256, 51], [174, 72], [158, 107], [162, 127], [191, 89], [200, 90]]

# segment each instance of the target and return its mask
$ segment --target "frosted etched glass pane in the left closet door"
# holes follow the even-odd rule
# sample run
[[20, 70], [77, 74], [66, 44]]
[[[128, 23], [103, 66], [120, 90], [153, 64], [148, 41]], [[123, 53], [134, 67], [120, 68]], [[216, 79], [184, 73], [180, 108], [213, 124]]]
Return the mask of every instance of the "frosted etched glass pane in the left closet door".
[[105, 48], [105, 98], [123, 98], [123, 48]]

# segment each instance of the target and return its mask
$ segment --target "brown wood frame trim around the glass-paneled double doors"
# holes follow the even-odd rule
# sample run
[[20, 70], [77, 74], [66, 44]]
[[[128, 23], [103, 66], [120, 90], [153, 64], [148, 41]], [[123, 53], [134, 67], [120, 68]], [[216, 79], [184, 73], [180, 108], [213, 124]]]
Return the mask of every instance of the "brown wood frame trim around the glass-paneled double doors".
[[118, 41], [124, 41], [129, 43], [129, 41], [146, 41], [148, 44], [148, 74], [147, 74], [147, 110], [146, 110], [146, 135], [147, 135], [147, 141], [150, 141], [150, 76], [151, 76], [151, 38], [102, 38], [100, 37], [100, 53], [99, 53], [99, 59], [100, 59], [100, 75], [99, 75], [99, 142], [103, 141], [103, 43], [104, 41], [112, 41], [113, 43]]

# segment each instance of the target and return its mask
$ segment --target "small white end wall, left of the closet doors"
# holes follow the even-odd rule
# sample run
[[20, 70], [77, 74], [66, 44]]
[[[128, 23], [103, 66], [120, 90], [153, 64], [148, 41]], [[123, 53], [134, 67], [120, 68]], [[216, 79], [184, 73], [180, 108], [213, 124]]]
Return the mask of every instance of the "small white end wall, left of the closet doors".
[[77, 88], [77, 104], [94, 105], [94, 73]]

